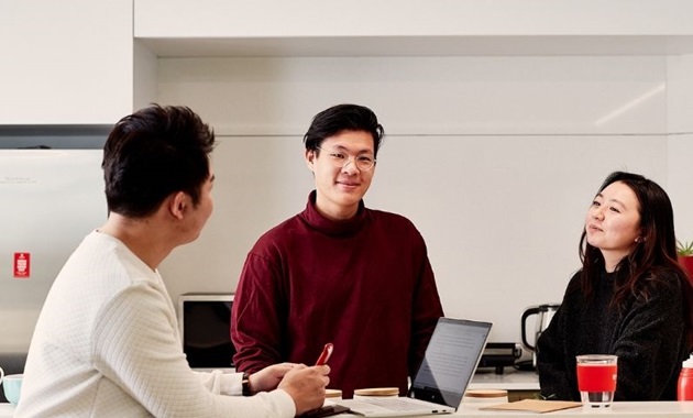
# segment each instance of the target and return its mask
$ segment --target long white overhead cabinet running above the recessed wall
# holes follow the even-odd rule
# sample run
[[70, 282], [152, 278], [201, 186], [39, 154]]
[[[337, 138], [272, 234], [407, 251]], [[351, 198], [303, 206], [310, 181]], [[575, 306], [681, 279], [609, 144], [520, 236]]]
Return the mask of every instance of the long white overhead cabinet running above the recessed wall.
[[135, 0], [158, 56], [693, 53], [690, 0]]

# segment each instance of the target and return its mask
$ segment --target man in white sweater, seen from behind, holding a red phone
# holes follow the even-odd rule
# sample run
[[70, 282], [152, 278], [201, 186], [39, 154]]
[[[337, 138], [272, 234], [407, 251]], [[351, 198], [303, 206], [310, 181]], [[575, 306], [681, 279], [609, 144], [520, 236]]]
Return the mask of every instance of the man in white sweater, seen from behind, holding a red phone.
[[322, 405], [327, 365], [248, 376], [194, 372], [185, 359], [157, 266], [211, 215], [213, 145], [184, 107], [152, 106], [113, 128], [102, 164], [108, 220], [51, 288], [15, 417], [293, 417]]

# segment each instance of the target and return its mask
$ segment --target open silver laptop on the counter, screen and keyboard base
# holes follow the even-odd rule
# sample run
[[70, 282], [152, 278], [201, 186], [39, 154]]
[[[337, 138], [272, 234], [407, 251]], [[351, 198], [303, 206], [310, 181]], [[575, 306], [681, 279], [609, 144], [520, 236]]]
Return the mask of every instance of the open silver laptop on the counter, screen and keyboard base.
[[407, 396], [360, 397], [337, 404], [364, 417], [453, 414], [476, 371], [491, 327], [490, 322], [440, 318]]

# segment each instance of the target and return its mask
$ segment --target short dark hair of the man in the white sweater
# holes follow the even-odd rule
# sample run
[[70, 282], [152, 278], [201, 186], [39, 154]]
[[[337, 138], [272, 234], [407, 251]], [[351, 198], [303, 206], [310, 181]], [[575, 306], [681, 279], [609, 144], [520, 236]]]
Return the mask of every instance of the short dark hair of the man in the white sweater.
[[146, 217], [176, 191], [197, 205], [213, 147], [213, 131], [187, 107], [152, 105], [124, 117], [103, 146], [109, 211]]

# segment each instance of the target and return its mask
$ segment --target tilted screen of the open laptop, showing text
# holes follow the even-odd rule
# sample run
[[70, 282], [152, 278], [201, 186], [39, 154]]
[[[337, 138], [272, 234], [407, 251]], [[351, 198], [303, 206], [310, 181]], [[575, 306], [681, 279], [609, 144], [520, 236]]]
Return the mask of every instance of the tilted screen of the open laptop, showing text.
[[409, 396], [457, 408], [488, 339], [492, 324], [440, 318]]

